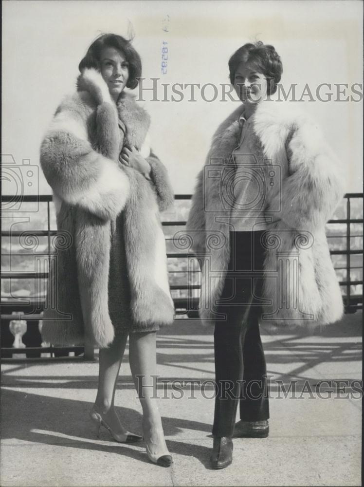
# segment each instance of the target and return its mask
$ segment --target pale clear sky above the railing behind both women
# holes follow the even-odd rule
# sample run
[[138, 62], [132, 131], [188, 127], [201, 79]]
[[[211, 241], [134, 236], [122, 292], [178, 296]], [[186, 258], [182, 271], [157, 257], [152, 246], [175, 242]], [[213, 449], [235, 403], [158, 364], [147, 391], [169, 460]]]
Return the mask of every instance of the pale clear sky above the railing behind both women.
[[[143, 87], [159, 78], [159, 101], [145, 91], [145, 101], [138, 103], [151, 116], [152, 148], [168, 169], [175, 193], [193, 191], [212, 134], [237, 107], [227, 96], [221, 101], [229, 57], [255, 40], [273, 44], [281, 56], [286, 92], [296, 84], [299, 99], [309, 86], [314, 99], [307, 95], [295, 104], [322, 126], [347, 169], [346, 192], [363, 191], [362, 1], [7, 0], [2, 15], [2, 154], [11, 154], [15, 165], [9, 157], [3, 163], [12, 168], [8, 174], [21, 173], [24, 181], [29, 172], [23, 166], [34, 166], [29, 174], [39, 177], [31, 186], [24, 183], [25, 194], [51, 194], [37, 168], [39, 146], [62, 97], [75, 89], [77, 66], [88, 46], [101, 33], [127, 37], [131, 27], [146, 78]], [[164, 66], [163, 47], [168, 50]], [[197, 90], [196, 101], [190, 101], [187, 88], [182, 101], [172, 101], [175, 83], [216, 85], [217, 99], [206, 101], [214, 97], [209, 85], [205, 99]], [[315, 95], [322, 83], [331, 85], [320, 92], [322, 99], [332, 93], [329, 101]], [[339, 83], [347, 89], [337, 88]], [[134, 93], [140, 98], [138, 88]], [[7, 179], [3, 192], [12, 194], [15, 183]]]

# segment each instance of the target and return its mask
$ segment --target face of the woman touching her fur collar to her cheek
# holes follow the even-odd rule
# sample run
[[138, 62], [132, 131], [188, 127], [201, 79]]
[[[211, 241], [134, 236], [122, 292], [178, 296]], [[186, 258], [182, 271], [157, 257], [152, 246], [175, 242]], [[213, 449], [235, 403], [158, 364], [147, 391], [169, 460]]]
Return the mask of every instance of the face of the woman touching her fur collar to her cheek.
[[100, 72], [116, 101], [129, 79], [129, 63], [124, 54], [114, 47], [104, 47], [100, 54]]

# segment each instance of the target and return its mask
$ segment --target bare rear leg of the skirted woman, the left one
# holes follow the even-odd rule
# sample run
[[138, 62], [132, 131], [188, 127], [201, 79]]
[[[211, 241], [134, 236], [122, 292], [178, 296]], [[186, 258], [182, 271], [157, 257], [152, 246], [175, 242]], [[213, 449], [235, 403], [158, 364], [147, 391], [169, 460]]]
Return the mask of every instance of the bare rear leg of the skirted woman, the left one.
[[116, 381], [126, 344], [127, 333], [115, 337], [108, 348], [100, 348], [99, 351], [99, 383], [95, 407], [116, 434], [124, 434], [127, 431], [114, 409]]

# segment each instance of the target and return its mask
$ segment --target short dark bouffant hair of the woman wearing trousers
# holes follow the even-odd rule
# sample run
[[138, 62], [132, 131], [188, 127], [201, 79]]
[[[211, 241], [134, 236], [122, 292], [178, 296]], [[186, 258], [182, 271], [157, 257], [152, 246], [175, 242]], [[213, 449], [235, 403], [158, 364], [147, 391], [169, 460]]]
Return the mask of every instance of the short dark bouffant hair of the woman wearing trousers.
[[267, 78], [267, 94], [273, 94], [277, 90], [277, 83], [281, 79], [283, 66], [281, 58], [278, 56], [273, 46], [255, 42], [254, 44], [244, 44], [229, 59], [230, 83], [233, 85], [235, 73], [238, 65], [249, 63], [257, 71], [263, 73]]

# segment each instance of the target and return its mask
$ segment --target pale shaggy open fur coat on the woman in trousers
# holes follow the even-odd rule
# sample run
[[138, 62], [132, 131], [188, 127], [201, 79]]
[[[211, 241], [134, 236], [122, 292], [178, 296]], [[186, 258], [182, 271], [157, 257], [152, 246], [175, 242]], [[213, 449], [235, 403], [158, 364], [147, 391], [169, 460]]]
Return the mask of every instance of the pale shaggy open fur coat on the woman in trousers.
[[[218, 128], [197, 179], [187, 222], [193, 249], [200, 258], [200, 316], [216, 318], [230, 257], [230, 212], [223, 195], [231, 189], [243, 111], [240, 106]], [[342, 317], [343, 300], [325, 236], [328, 221], [344, 194], [343, 174], [318, 127], [282, 103], [263, 102], [255, 112], [254, 131], [264, 158], [279, 165], [282, 180], [268, 192], [261, 298], [263, 319], [280, 324], [327, 324]], [[211, 178], [212, 169], [224, 177]], [[211, 173], [210, 173], [211, 174]], [[273, 223], [274, 222], [274, 223]]]

